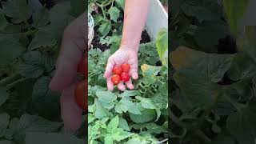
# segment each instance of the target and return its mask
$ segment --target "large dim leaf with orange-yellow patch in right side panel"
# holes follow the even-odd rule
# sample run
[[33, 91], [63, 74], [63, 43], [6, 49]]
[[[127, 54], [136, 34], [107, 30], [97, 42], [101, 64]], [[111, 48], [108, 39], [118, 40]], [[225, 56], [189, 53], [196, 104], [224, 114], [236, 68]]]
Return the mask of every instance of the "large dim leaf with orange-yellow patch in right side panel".
[[212, 106], [222, 94], [220, 82], [230, 69], [234, 55], [206, 54], [179, 47], [171, 53], [171, 64], [177, 72], [174, 80], [194, 107]]

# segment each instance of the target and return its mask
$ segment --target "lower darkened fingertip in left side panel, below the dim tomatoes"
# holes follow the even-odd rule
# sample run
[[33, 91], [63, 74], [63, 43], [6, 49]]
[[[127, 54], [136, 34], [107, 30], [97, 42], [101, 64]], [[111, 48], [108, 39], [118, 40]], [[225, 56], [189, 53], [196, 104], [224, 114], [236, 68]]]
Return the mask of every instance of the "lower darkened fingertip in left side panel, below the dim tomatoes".
[[78, 130], [82, 124], [82, 109], [74, 100], [75, 84], [62, 91], [61, 114], [66, 130]]

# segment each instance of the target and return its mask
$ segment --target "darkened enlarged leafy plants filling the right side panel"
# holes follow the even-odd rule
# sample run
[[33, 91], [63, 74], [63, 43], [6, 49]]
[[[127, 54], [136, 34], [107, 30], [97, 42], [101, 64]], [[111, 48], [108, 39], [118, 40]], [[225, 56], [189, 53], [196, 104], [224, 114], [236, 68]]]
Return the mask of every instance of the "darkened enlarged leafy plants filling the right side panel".
[[249, 1], [170, 1], [170, 141], [255, 142], [255, 26]]

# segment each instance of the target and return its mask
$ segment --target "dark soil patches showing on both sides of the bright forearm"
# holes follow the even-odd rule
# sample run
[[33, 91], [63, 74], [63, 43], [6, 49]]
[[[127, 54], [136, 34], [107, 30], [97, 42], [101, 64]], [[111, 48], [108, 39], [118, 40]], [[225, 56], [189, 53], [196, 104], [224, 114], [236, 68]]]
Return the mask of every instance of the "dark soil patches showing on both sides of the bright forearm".
[[[100, 44], [99, 40], [100, 40], [100, 36], [98, 35], [97, 31], [95, 30], [94, 31], [94, 39], [91, 42], [91, 44], [94, 46], [94, 48], [98, 48], [102, 51], [109, 49], [109, 46]], [[150, 35], [147, 34], [146, 30], [144, 30], [142, 32], [142, 40], [140, 43], [146, 43], [146, 42], [150, 42]]]

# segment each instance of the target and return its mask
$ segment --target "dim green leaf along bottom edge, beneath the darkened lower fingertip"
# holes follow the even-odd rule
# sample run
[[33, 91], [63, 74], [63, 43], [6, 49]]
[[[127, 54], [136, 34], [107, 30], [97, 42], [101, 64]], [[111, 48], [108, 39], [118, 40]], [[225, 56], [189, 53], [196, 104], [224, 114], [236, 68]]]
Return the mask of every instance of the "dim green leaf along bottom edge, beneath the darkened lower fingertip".
[[30, 132], [26, 134], [25, 138], [26, 144], [70, 144], [77, 143], [82, 144], [84, 141], [82, 139], [78, 139], [74, 136], [74, 134], [58, 134], [58, 133], [40, 133], [40, 132]]

